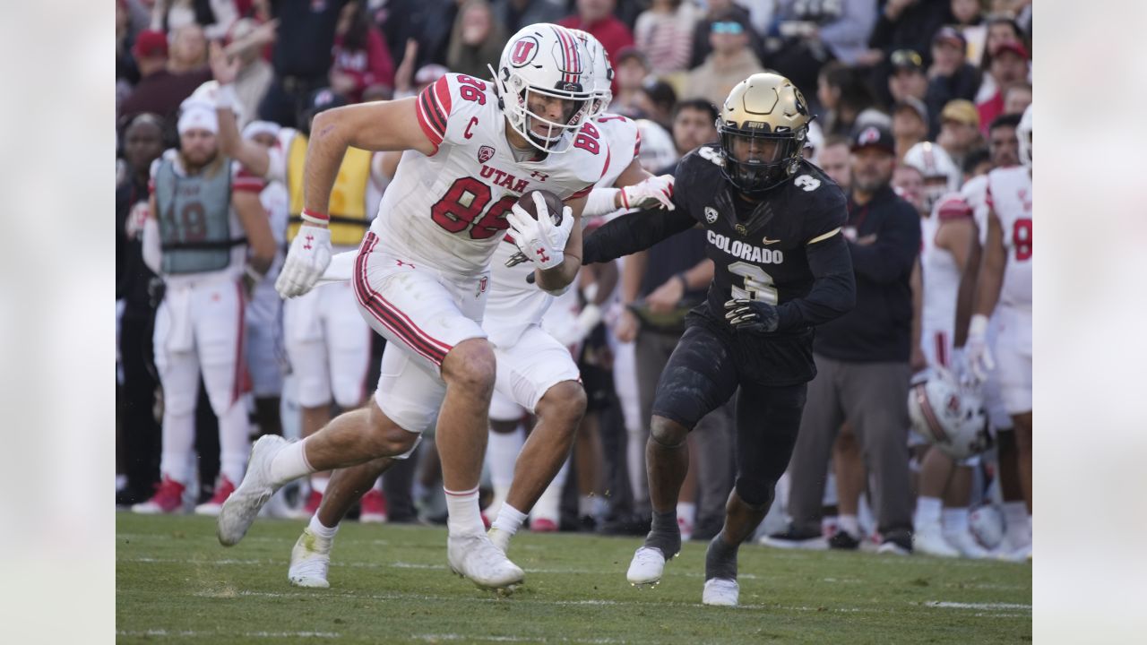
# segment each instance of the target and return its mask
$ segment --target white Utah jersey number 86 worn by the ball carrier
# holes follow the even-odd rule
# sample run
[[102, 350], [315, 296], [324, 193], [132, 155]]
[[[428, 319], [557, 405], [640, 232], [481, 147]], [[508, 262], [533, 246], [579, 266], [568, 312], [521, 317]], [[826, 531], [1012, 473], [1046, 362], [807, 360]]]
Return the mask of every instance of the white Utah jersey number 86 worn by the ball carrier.
[[428, 86], [416, 108], [435, 151], [403, 154], [370, 230], [382, 250], [437, 271], [485, 271], [509, 226], [506, 215], [523, 193], [580, 197], [611, 165], [591, 123], [569, 151], [515, 161], [493, 87], [466, 75], [448, 73]]

